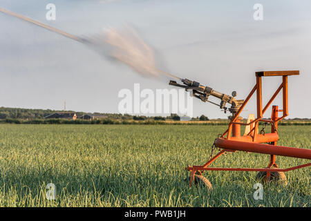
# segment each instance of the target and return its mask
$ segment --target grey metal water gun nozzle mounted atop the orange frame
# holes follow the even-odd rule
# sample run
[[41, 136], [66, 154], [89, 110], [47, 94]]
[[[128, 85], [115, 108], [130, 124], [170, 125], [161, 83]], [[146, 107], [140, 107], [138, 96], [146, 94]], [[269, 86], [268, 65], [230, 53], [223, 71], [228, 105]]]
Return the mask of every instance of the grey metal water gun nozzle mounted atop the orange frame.
[[[181, 79], [182, 84], [178, 84], [176, 81], [169, 81], [170, 85], [178, 86], [180, 88], [185, 88], [186, 90], [192, 90], [192, 93], [194, 97], [197, 97], [198, 99], [201, 99], [202, 102], [209, 102], [211, 104], [215, 104], [217, 106], [220, 106], [221, 109], [227, 112], [227, 107], [225, 106], [227, 103], [231, 104], [231, 107], [229, 108], [229, 112], [232, 113], [232, 116], [238, 112], [238, 109], [243, 104], [243, 99], [235, 99], [236, 97], [236, 91], [232, 92], [232, 96], [219, 93], [218, 91], [208, 87], [208, 86], [202, 86], [200, 83], [196, 81], [191, 81], [189, 79]], [[216, 104], [214, 102], [209, 101], [209, 96], [217, 97], [221, 100], [220, 104]]]

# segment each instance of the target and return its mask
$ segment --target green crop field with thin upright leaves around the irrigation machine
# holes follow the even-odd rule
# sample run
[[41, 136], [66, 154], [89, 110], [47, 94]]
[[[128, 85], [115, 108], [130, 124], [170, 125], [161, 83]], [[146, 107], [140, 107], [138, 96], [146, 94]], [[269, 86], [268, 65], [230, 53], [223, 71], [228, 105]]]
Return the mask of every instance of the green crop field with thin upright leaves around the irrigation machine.
[[[185, 166], [207, 162], [226, 126], [0, 124], [0, 206], [310, 206], [310, 168], [285, 173], [254, 200], [256, 172], [205, 172], [189, 188]], [[280, 126], [280, 145], [311, 147], [311, 126]], [[265, 167], [269, 155], [237, 152], [211, 166]], [[277, 157], [281, 168], [308, 160]], [[55, 184], [56, 199], [46, 199]]]

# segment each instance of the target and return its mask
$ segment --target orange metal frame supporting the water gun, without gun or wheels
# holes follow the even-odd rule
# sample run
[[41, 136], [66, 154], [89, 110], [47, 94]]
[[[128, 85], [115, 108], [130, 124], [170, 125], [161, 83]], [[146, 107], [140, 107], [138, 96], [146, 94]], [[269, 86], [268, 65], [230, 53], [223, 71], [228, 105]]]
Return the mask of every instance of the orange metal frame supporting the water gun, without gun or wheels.
[[[287, 157], [299, 157], [303, 159], [311, 160], [311, 150], [304, 148], [293, 148], [288, 146], [277, 146], [276, 142], [279, 140], [279, 135], [277, 132], [278, 122], [288, 116], [288, 75], [299, 75], [299, 70], [286, 70], [286, 71], [263, 71], [256, 72], [256, 85], [251, 90], [245, 102], [239, 108], [238, 112], [234, 117], [232, 117], [229, 122], [229, 127], [227, 131], [223, 133], [218, 139], [215, 140], [215, 145], [222, 150], [212, 157], [207, 163], [202, 166], [188, 166], [187, 171], [191, 171], [191, 182], [194, 180], [194, 175], [199, 173], [202, 175], [204, 171], [266, 171], [267, 180], [270, 179], [271, 172], [286, 172], [295, 169], [301, 169], [306, 166], [311, 166], [311, 163], [302, 164], [299, 166], [290, 167], [288, 169], [279, 169], [276, 165], [276, 155], [287, 156]], [[274, 95], [270, 98], [269, 102], [263, 108], [262, 105], [262, 77], [269, 76], [281, 76], [283, 81], [279, 88], [276, 89]], [[275, 97], [283, 89], [283, 110], [279, 110], [278, 106], [272, 106], [271, 119], [263, 119], [263, 114], [267, 111], [267, 108], [272, 104]], [[241, 122], [241, 111], [245, 108], [249, 99], [254, 95], [256, 91], [257, 100], [257, 117], [252, 122], [243, 123]], [[278, 113], [283, 112], [283, 116], [279, 117]], [[259, 122], [267, 122], [271, 124], [271, 133], [258, 134], [258, 124]], [[241, 136], [241, 125], [249, 125], [250, 131], [247, 135]], [[262, 144], [269, 143], [269, 144]], [[270, 163], [265, 169], [252, 169], [252, 168], [216, 168], [209, 167], [209, 165], [214, 162], [220, 155], [226, 152], [236, 152], [236, 151], [247, 151], [253, 153], [264, 153], [270, 154]]]

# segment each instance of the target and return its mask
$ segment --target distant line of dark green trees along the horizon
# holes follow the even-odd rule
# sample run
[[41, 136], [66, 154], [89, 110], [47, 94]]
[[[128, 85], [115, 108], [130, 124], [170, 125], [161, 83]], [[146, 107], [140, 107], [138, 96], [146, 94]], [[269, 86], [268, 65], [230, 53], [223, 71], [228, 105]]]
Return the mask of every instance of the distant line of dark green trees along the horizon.
[[[47, 115], [55, 112], [54, 110], [43, 110], [43, 109], [27, 109], [27, 108], [6, 108], [0, 107], [0, 123], [12, 123], [12, 124], [178, 124], [180, 121], [180, 116], [176, 113], [172, 113], [167, 117], [156, 116], [147, 117], [142, 115], [129, 115], [120, 113], [93, 113], [106, 115], [105, 119], [94, 119], [92, 121], [86, 119], [44, 119]], [[75, 111], [68, 111], [75, 112]], [[84, 114], [84, 112], [75, 112], [78, 116]], [[246, 119], [244, 119], [246, 120]], [[205, 115], [200, 117], [191, 118], [190, 124], [209, 124], [209, 125], [227, 125], [227, 119], [216, 119], [209, 121], [209, 118]], [[196, 123], [198, 122], [198, 123]], [[182, 122], [181, 122], [182, 123]], [[260, 123], [261, 124], [261, 123]], [[292, 118], [284, 119], [283, 122], [279, 122], [279, 125], [310, 125], [311, 119], [308, 118]]]

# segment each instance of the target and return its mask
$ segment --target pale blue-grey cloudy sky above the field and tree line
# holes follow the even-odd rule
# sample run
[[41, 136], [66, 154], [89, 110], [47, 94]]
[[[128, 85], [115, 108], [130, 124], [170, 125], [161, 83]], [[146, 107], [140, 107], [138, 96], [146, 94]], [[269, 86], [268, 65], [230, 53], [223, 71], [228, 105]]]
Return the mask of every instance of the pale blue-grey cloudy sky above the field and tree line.
[[[299, 2], [299, 4], [298, 4]], [[46, 20], [46, 5], [56, 20]], [[255, 3], [263, 20], [253, 18]], [[290, 118], [311, 118], [311, 1], [1, 0], [0, 8], [83, 36], [129, 24], [173, 75], [245, 99], [260, 70], [300, 70], [290, 76]], [[117, 113], [120, 90], [171, 89], [90, 48], [0, 13], [0, 106]], [[263, 78], [263, 104], [281, 77]], [[214, 100], [215, 101], [215, 100]], [[274, 105], [282, 106], [281, 97]], [[256, 113], [255, 97], [242, 116]], [[194, 100], [194, 116], [226, 118], [217, 106]], [[268, 109], [265, 117], [270, 117]]]

